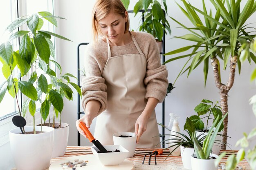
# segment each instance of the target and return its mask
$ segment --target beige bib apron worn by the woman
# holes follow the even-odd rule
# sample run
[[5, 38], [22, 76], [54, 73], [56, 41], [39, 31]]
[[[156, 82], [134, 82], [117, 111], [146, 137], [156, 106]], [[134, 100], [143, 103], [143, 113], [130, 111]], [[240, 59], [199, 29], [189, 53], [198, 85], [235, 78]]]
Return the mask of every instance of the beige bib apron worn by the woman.
[[[144, 78], [147, 61], [134, 36], [132, 34], [131, 36], [139, 54], [111, 57], [107, 40], [108, 60], [102, 76], [107, 85], [108, 109], [97, 116], [94, 134], [103, 145], [113, 145], [114, 133], [134, 132], [137, 118], [146, 107]], [[156, 147], [155, 145], [160, 142], [157, 135], [159, 131], [153, 111], [137, 147]], [[153, 136], [157, 137], [152, 138]]]

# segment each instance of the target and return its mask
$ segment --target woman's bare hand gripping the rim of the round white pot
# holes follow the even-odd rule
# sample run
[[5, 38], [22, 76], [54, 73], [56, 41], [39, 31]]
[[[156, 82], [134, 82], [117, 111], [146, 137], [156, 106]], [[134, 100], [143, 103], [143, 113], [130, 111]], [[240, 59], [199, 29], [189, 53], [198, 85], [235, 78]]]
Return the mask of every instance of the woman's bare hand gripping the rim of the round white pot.
[[137, 143], [139, 143], [139, 139], [141, 135], [146, 131], [148, 120], [151, 114], [147, 114], [146, 112], [142, 112], [141, 115], [138, 117], [135, 123], [135, 134], [137, 134]]

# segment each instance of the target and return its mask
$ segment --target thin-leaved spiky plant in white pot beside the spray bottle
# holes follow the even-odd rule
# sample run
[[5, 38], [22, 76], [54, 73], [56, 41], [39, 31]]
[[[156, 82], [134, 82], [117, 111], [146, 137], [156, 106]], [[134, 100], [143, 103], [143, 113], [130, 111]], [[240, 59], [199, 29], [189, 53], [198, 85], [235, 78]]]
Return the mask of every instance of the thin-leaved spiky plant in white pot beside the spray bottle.
[[[161, 125], [161, 124], [159, 124], [159, 125]], [[174, 132], [172, 130], [169, 130], [168, 128], [166, 128], [166, 129], [170, 132]], [[186, 118], [186, 123], [184, 125], [184, 132], [186, 132], [187, 135], [183, 134], [182, 132], [175, 132], [175, 133], [171, 133], [171, 134], [163, 134], [160, 136], [170, 137], [169, 139], [166, 139], [162, 142], [167, 144], [169, 146], [168, 148], [174, 148], [173, 151], [180, 147], [183, 166], [186, 169], [191, 169], [191, 158], [190, 157], [191, 157], [191, 154], [194, 153], [193, 140], [196, 140], [198, 143], [202, 144], [205, 136], [199, 135], [199, 136], [196, 136], [194, 139], [192, 138], [192, 135], [195, 134], [195, 125], [189, 118]], [[170, 152], [170, 154], [172, 152]]]

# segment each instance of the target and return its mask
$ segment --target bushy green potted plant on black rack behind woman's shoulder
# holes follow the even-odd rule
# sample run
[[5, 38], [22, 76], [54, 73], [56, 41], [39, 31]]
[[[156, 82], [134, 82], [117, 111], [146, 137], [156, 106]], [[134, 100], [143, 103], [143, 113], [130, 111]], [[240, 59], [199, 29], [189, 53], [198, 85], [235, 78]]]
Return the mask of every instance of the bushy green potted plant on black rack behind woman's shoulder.
[[[126, 2], [127, 0], [123, 0], [123, 3], [129, 4]], [[166, 0], [161, 0], [161, 3], [157, 0], [139, 0], [134, 6], [135, 16], [139, 12], [139, 10], [144, 9], [144, 12], [141, 15], [145, 16], [144, 22], [139, 25], [139, 31], [145, 31], [151, 35], [153, 35], [157, 41], [159, 51], [162, 51], [162, 37], [164, 35], [164, 31], [167, 34], [171, 34], [171, 29], [169, 22], [166, 20], [167, 13], [167, 5]], [[148, 10], [149, 9], [149, 10]], [[167, 30], [167, 31], [166, 31]]]

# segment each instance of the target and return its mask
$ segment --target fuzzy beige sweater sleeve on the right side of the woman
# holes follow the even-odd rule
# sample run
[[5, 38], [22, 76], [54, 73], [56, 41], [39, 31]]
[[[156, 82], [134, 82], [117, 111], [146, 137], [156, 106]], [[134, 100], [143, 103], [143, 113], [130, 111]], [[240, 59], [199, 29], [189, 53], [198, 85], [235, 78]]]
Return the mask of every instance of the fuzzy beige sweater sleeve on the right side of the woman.
[[150, 35], [150, 45], [147, 54], [147, 71], [144, 79], [146, 85], [146, 99], [156, 98], [159, 103], [164, 101], [168, 87], [168, 72], [165, 65], [161, 65], [159, 50], [155, 38]]

